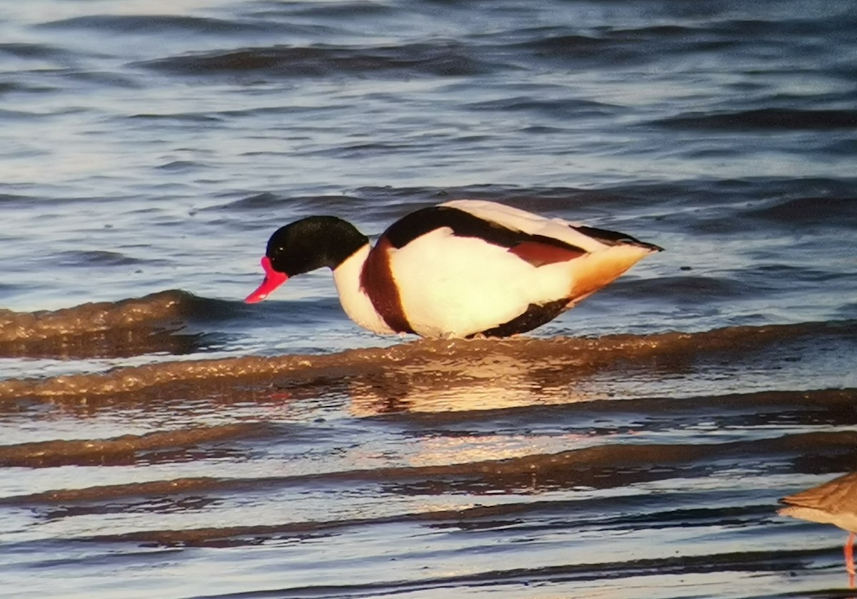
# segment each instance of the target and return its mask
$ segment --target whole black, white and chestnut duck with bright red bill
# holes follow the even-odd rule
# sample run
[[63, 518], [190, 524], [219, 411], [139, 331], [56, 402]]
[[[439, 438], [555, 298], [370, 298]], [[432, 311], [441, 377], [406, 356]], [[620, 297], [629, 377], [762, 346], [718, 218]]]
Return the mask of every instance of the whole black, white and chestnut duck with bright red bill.
[[327, 267], [345, 314], [369, 331], [502, 338], [554, 320], [660, 251], [494, 201], [423, 207], [375, 245], [344, 219], [310, 216], [274, 231], [261, 259], [265, 279], [245, 302]]

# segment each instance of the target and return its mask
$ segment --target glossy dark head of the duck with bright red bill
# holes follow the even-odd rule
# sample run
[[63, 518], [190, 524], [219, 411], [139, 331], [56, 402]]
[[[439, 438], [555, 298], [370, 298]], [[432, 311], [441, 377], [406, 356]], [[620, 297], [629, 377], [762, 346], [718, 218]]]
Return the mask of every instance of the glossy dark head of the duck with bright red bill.
[[316, 268], [336, 268], [369, 239], [335, 216], [310, 216], [280, 227], [268, 239], [261, 265], [265, 279], [244, 301], [261, 302], [286, 280]]

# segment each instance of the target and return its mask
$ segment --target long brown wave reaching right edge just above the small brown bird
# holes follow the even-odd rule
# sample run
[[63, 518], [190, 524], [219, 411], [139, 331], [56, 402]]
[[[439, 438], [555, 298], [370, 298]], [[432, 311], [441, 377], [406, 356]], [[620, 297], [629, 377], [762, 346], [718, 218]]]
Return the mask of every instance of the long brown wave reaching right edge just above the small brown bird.
[[[14, 451], [14, 450], [12, 450]], [[90, 488], [65, 488], [0, 499], [2, 505], [67, 503], [117, 500], [151, 494], [199, 494], [205, 492], [298, 487], [310, 484], [382, 485], [391, 494], [485, 494], [491, 489], [613, 488], [674, 476], [707, 476], [708, 465], [725, 459], [770, 461], [800, 458], [812, 453], [821, 458], [857, 458], [857, 432], [837, 431], [784, 434], [782, 436], [714, 443], [612, 443], [557, 453], [528, 454], [517, 458], [485, 459], [456, 464], [387, 466], [367, 470], [338, 470], [316, 474], [225, 478], [196, 476], [162, 481], [131, 482]], [[657, 468], [652, 468], [657, 464]]]

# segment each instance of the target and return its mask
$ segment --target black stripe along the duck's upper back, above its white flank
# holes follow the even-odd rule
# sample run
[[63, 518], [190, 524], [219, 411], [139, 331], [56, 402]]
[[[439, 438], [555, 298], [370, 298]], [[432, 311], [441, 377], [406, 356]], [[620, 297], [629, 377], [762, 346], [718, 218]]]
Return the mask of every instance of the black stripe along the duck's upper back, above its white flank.
[[585, 253], [583, 249], [560, 239], [509, 229], [499, 223], [480, 219], [464, 210], [450, 206], [432, 206], [410, 213], [390, 225], [387, 231], [384, 231], [384, 237], [390, 240], [394, 248], [403, 248], [417, 237], [443, 227], [452, 229], [452, 235], [478, 237], [501, 248], [514, 248], [522, 242], [537, 242]]

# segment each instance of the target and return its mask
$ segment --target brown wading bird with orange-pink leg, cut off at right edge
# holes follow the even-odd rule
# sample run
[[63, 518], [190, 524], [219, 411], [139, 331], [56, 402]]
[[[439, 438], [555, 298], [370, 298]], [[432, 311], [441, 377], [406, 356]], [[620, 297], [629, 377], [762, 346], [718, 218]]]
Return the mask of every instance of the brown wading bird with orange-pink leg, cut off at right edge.
[[786, 504], [777, 510], [780, 516], [800, 518], [821, 524], [833, 524], [848, 532], [842, 553], [845, 556], [845, 571], [848, 572], [848, 587], [854, 589], [854, 538], [857, 536], [857, 471], [838, 476], [783, 497]]

